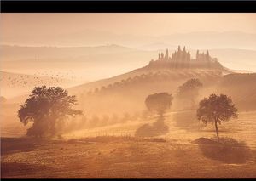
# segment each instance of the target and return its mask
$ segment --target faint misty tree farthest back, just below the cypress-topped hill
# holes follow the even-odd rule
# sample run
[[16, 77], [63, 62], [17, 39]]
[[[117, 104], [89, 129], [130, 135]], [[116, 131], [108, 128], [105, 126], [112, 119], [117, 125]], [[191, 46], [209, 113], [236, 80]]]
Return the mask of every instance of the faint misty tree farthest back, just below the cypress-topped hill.
[[195, 98], [198, 96], [199, 88], [202, 87], [202, 83], [197, 78], [189, 79], [177, 88], [177, 97], [179, 99], [190, 99], [191, 105], [195, 106]]

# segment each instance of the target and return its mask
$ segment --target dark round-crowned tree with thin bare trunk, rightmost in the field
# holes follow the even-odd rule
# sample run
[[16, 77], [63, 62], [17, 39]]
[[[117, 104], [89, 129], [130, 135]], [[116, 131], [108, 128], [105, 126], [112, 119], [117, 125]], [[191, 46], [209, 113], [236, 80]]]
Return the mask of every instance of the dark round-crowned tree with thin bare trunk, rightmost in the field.
[[231, 117], [237, 118], [236, 112], [236, 107], [228, 96], [211, 94], [208, 99], [201, 100], [197, 110], [197, 118], [206, 124], [208, 122], [214, 123], [219, 140], [218, 124], [224, 121], [228, 122]]

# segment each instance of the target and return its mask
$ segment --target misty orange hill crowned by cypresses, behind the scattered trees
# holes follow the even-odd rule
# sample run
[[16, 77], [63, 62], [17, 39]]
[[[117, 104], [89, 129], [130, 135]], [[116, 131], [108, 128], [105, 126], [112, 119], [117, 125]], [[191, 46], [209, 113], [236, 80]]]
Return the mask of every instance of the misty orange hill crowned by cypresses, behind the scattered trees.
[[[233, 73], [208, 52], [198, 51], [193, 58], [185, 48], [178, 48], [172, 56], [166, 51], [166, 54], [159, 54], [159, 59], [151, 60], [142, 68], [67, 90], [77, 96], [78, 108], [95, 120], [97, 116], [112, 116], [115, 119], [115, 116], [143, 114], [146, 110], [144, 100], [149, 94], [167, 92], [175, 97], [177, 88], [191, 78], [198, 78], [203, 84], [197, 101], [211, 93], [226, 93], [239, 110], [255, 110], [256, 79], [253, 75]], [[27, 96], [17, 96], [7, 102], [21, 104]], [[172, 110], [187, 109], [185, 105], [178, 105], [174, 99]]]

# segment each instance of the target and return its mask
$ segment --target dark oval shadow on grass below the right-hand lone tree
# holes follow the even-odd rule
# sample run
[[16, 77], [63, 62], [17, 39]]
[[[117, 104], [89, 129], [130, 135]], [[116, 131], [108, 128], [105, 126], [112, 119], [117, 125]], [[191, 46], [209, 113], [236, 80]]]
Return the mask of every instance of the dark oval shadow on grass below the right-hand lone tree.
[[199, 145], [203, 155], [212, 160], [224, 163], [245, 163], [253, 159], [253, 154], [245, 142], [236, 139], [221, 138], [216, 139], [200, 138], [193, 142]]

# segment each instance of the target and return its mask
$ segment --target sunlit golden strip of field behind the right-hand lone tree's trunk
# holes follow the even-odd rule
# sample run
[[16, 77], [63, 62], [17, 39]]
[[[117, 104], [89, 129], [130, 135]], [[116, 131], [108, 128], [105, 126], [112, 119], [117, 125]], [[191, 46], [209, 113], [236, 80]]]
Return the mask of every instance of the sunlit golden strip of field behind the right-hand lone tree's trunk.
[[[155, 122], [156, 116], [149, 116], [147, 120], [138, 119], [120, 124], [114, 124], [107, 127], [96, 127], [94, 129], [80, 129], [72, 133], [63, 135], [65, 139], [78, 139], [81, 137], [96, 136], [133, 136], [138, 127], [143, 124]], [[243, 111], [238, 113], [237, 119], [231, 119], [219, 125], [221, 137], [229, 137], [239, 141], [245, 141], [250, 147], [256, 149], [256, 111]], [[177, 139], [179, 143], [188, 143], [189, 141], [200, 137], [214, 137], [216, 135], [214, 126], [208, 124], [205, 126], [195, 117], [195, 110], [171, 111], [166, 113], [166, 125], [169, 127], [169, 133], [162, 136], [164, 139]]]

